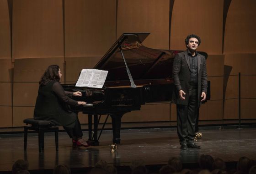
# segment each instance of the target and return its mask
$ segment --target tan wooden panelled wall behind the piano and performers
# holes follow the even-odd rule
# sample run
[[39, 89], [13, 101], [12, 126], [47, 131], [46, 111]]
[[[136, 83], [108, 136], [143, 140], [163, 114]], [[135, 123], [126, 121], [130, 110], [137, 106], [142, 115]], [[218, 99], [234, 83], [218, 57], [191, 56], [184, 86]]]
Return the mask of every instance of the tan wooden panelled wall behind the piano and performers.
[[[229, 76], [238, 72], [246, 75], [241, 117], [255, 119], [255, 6], [254, 0], [0, 0], [0, 127], [23, 126], [32, 117], [46, 67], [58, 64], [62, 82], [75, 82], [124, 32], [150, 32], [144, 46], [171, 50], [185, 50], [185, 37], [197, 34], [211, 81], [200, 120], [238, 118], [238, 76]], [[146, 104], [123, 117], [175, 120], [176, 106], [169, 102]]]

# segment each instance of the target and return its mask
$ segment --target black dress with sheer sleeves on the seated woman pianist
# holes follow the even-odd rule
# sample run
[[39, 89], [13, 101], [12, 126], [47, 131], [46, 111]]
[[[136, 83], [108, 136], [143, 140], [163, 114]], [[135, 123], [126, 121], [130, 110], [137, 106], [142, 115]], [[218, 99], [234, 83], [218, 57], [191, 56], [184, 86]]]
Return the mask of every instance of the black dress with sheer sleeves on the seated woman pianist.
[[57, 81], [49, 81], [46, 85], [40, 85], [34, 110], [35, 119], [49, 120], [56, 125], [74, 128], [77, 114], [69, 110], [68, 105], [77, 105], [77, 101], [71, 99], [72, 92], [64, 91]]

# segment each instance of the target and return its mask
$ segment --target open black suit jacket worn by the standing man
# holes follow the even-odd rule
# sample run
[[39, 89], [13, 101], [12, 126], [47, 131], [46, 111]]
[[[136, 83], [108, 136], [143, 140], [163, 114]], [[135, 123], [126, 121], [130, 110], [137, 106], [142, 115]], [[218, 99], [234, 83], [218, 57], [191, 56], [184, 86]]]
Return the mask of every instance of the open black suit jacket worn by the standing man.
[[[175, 90], [172, 95], [172, 102], [176, 104], [187, 105], [188, 104], [188, 91], [190, 83], [190, 62], [187, 55], [187, 50], [178, 53], [173, 61], [172, 67], [172, 79], [175, 84]], [[206, 60], [205, 57], [197, 53], [197, 86], [198, 86], [198, 107], [201, 105], [202, 92], [207, 93], [207, 72], [206, 72]], [[185, 100], [181, 100], [179, 97], [179, 91], [183, 90]]]

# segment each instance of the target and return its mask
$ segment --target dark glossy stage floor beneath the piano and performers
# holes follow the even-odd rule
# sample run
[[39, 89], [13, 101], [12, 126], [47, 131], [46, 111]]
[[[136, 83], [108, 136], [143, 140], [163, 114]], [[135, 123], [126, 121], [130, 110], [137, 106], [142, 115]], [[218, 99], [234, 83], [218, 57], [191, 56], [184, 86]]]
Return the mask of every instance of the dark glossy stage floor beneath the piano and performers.
[[[27, 151], [23, 149], [23, 134], [0, 134], [0, 173], [11, 171], [17, 159], [26, 159], [29, 170], [53, 169], [68, 164], [72, 169], [89, 169], [102, 159], [115, 166], [129, 166], [141, 159], [146, 165], [167, 164], [170, 157], [180, 158], [183, 164], [196, 164], [201, 154], [219, 157], [226, 162], [238, 161], [242, 156], [256, 159], [256, 128], [203, 129], [197, 141], [201, 149], [181, 150], [176, 128], [121, 130], [121, 144], [110, 151], [111, 131], [102, 133], [100, 146], [73, 148], [71, 139], [59, 133], [59, 151], [55, 151], [54, 134], [46, 133], [44, 152], [38, 152], [36, 133], [30, 133]], [[88, 136], [84, 132], [84, 138]], [[50, 171], [50, 170], [48, 170]], [[32, 172], [33, 173], [33, 172]]]

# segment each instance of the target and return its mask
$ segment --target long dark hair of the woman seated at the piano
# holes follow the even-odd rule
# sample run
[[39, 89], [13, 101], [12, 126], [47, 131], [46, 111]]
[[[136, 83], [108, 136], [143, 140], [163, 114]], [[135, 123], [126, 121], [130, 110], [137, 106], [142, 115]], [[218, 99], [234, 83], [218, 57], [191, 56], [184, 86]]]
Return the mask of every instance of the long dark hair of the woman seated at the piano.
[[59, 66], [58, 65], [50, 65], [43, 76], [40, 79], [39, 85], [45, 85], [50, 80], [59, 81]]

